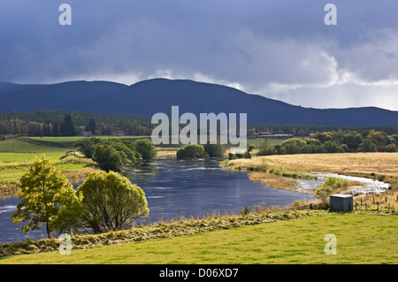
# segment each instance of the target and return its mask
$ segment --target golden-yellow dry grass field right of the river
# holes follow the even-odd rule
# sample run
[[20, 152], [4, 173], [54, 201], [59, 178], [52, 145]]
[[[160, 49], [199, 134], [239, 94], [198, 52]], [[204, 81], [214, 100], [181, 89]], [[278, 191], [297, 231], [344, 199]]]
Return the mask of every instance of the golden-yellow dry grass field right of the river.
[[[398, 188], [398, 153], [253, 156], [251, 159], [235, 159], [227, 166], [237, 170], [248, 170], [249, 166], [266, 166], [268, 169], [283, 167], [287, 171], [333, 172], [373, 179], [383, 177], [384, 182]], [[272, 176], [266, 172], [250, 173], [250, 179], [271, 187], [295, 187], [294, 180]]]

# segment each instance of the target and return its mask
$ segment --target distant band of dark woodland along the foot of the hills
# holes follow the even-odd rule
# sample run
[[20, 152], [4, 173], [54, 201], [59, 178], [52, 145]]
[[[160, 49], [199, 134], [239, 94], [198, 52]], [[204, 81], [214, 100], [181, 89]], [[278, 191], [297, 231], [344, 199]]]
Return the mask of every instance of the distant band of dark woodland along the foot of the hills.
[[[11, 122], [12, 119], [12, 122]], [[11, 126], [12, 125], [12, 126]], [[12, 111], [0, 113], [0, 140], [7, 136], [74, 136], [83, 131], [94, 135], [111, 135], [113, 131], [124, 131], [126, 135], [149, 136], [157, 125], [151, 118], [131, 115], [110, 115], [82, 111]], [[13, 128], [11, 128], [13, 127]], [[248, 135], [258, 132], [293, 134], [298, 137], [310, 133], [350, 133], [375, 130], [389, 135], [398, 134], [398, 126], [248, 126]]]

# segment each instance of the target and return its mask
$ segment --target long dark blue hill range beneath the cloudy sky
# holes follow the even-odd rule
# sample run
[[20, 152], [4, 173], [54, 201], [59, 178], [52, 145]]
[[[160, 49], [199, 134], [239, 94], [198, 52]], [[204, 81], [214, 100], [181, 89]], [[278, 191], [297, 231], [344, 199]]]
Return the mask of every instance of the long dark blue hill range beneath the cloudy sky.
[[131, 86], [107, 81], [54, 85], [0, 84], [0, 111], [65, 110], [150, 117], [171, 114], [248, 113], [248, 124], [313, 126], [398, 126], [398, 111], [376, 107], [312, 109], [290, 105], [235, 88], [193, 80], [144, 80]]

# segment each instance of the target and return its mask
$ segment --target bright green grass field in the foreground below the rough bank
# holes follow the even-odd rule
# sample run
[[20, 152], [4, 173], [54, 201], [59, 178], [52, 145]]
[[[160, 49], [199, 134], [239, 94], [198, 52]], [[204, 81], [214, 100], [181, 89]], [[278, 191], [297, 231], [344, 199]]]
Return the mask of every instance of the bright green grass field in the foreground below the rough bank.
[[[171, 239], [0, 259], [0, 263], [398, 263], [398, 217], [336, 214]], [[333, 233], [337, 255], [325, 255]]]

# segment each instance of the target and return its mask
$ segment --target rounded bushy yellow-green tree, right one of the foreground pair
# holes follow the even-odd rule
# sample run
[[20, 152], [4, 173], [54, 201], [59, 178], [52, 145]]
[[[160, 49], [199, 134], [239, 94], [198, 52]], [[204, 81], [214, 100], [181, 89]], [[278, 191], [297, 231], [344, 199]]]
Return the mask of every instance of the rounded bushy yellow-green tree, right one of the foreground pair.
[[80, 224], [95, 233], [124, 229], [149, 214], [142, 189], [117, 172], [91, 172], [77, 193], [83, 196]]

